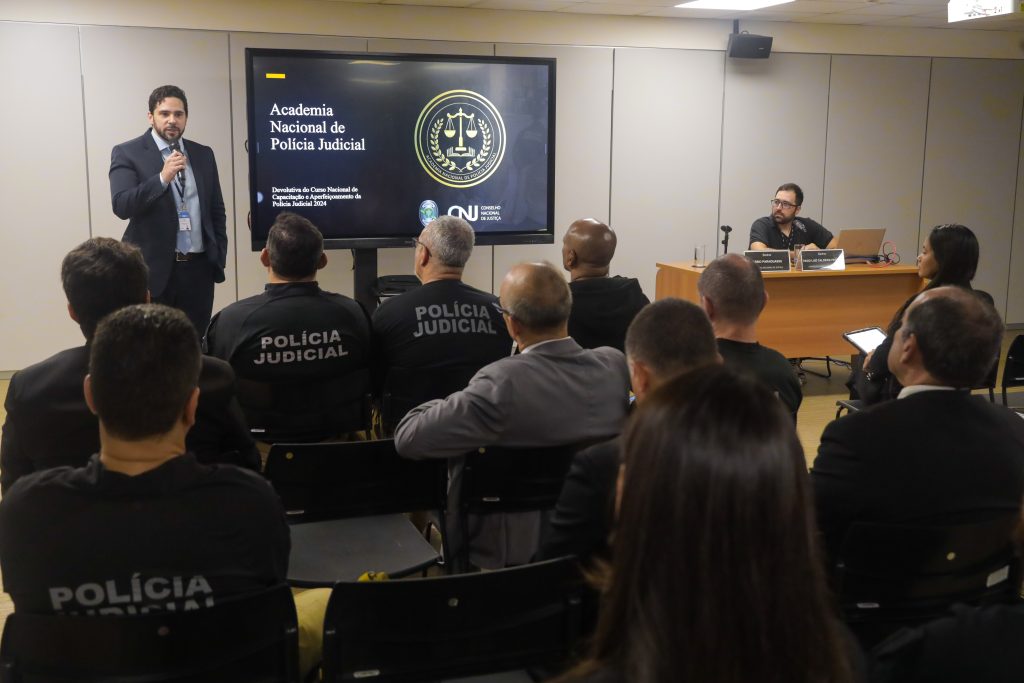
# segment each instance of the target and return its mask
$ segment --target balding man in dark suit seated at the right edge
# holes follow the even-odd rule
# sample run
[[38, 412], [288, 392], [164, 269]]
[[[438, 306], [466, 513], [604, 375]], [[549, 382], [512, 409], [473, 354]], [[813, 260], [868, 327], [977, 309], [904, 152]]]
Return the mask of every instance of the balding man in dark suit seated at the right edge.
[[1002, 322], [968, 290], [924, 292], [903, 313], [889, 369], [896, 400], [836, 420], [811, 481], [833, 559], [854, 522], [945, 524], [1012, 515], [1024, 495], [1024, 420], [972, 396]]

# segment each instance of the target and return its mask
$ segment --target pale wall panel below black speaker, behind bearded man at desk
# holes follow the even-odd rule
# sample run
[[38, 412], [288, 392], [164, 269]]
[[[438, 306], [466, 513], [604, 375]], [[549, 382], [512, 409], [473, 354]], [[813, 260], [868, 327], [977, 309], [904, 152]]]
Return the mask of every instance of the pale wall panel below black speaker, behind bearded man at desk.
[[[783, 182], [804, 190], [803, 215], [821, 219], [828, 120], [828, 55], [729, 59], [725, 70], [720, 221], [746, 248]], [[707, 105], [695, 98], [695, 105]], [[825, 225], [828, 227], [828, 225]]]

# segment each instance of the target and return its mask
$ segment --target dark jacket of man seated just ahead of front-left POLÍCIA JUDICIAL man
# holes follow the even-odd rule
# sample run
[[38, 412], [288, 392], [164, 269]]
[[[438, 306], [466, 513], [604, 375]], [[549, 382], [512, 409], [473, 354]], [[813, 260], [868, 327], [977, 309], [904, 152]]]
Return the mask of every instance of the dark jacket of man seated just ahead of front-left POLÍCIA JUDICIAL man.
[[[99, 451], [99, 425], [82, 393], [89, 347], [78, 346], [30, 366], [10, 378], [0, 441], [0, 489], [37, 470], [83, 467]], [[186, 445], [200, 462], [259, 469], [259, 452], [234, 397], [234, 373], [203, 356], [196, 424]]]

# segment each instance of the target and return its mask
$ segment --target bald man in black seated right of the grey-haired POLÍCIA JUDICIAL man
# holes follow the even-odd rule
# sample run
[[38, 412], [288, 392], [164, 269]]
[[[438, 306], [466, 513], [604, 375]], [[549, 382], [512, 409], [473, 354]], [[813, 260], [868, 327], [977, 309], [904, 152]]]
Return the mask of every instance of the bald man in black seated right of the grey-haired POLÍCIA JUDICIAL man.
[[584, 348], [624, 349], [626, 330], [650, 303], [636, 278], [608, 275], [615, 233], [593, 218], [581, 218], [562, 239], [562, 267], [569, 271], [572, 312], [569, 336]]

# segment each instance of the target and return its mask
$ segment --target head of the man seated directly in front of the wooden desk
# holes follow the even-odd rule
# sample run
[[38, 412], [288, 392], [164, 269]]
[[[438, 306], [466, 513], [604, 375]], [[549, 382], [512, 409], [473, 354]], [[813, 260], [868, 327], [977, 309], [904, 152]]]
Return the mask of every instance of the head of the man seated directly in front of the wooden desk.
[[726, 254], [709, 263], [697, 280], [697, 291], [715, 304], [724, 321], [752, 325], [765, 307], [761, 268], [739, 254]]

